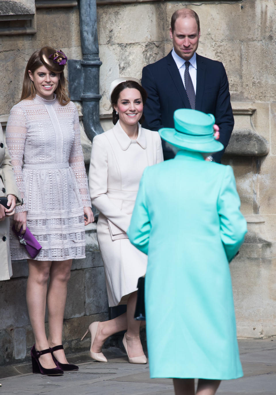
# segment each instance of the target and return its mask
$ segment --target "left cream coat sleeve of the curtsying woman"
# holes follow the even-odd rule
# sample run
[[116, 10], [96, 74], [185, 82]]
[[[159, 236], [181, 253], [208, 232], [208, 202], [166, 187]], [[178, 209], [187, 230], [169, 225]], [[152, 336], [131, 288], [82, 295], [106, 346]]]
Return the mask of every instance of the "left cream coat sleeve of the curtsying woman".
[[92, 143], [89, 167], [89, 191], [92, 204], [124, 232], [128, 229], [131, 215], [116, 207], [107, 196], [107, 149], [102, 135], [95, 136]]

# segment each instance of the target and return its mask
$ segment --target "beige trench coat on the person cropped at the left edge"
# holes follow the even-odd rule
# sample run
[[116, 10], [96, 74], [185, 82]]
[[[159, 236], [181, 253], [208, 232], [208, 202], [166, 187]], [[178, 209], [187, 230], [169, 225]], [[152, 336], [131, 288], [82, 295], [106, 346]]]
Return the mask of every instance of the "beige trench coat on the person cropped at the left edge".
[[[21, 204], [21, 195], [16, 186], [11, 158], [4, 140], [0, 124], [0, 196], [15, 195], [17, 205]], [[11, 254], [9, 252], [9, 217], [0, 221], [0, 280], [9, 280], [12, 275]]]

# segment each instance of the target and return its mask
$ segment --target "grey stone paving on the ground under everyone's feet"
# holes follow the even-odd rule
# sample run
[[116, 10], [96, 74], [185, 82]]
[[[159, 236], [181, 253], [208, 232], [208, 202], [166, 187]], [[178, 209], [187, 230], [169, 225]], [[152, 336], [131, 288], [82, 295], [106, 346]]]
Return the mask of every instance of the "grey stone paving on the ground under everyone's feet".
[[[275, 395], [276, 342], [274, 339], [240, 340], [241, 360], [244, 377], [225, 380], [218, 389], [218, 395]], [[88, 354], [68, 357], [70, 362], [79, 363], [78, 372], [66, 373], [61, 377], [40, 374], [19, 374], [30, 372], [31, 364], [6, 367], [2, 378], [0, 395], [173, 395], [171, 379], [150, 379], [149, 366], [130, 364], [126, 355], [113, 349], [104, 353], [107, 363], [99, 363]], [[4, 369], [0, 368], [0, 375]], [[19, 374], [14, 376], [15, 374]], [[3, 377], [3, 376], [2, 376]]]

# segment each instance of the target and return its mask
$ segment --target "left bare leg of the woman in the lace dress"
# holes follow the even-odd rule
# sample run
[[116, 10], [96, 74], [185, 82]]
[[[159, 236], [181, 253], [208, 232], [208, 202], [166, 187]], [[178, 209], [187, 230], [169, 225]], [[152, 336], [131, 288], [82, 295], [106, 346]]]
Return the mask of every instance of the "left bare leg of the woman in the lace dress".
[[[34, 332], [36, 350], [49, 348], [45, 333], [45, 308], [47, 295], [47, 280], [49, 278], [51, 261], [35, 261], [28, 259], [29, 276], [27, 281], [26, 300], [30, 322]], [[46, 369], [56, 367], [51, 354], [39, 357], [39, 362]]]

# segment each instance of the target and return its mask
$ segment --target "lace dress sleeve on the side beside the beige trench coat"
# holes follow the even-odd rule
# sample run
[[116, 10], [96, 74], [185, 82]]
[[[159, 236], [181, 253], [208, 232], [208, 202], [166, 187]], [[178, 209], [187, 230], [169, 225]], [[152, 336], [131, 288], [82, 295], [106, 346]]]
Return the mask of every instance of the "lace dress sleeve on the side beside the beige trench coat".
[[[27, 136], [26, 117], [24, 110], [18, 106], [11, 109], [6, 128], [6, 144], [11, 156], [17, 187], [24, 202], [24, 185], [22, 176], [22, 163], [24, 146]], [[27, 211], [26, 205], [15, 207], [15, 212]]]

